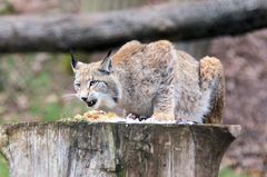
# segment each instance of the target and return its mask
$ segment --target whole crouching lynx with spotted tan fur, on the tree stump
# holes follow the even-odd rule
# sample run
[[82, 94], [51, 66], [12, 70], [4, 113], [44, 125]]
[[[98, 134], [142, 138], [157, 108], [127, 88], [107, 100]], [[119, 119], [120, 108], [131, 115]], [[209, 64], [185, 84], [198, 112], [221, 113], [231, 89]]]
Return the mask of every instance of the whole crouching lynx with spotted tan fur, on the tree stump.
[[220, 124], [225, 97], [221, 62], [199, 61], [167, 40], [130, 41], [98, 62], [71, 53], [77, 97], [92, 109], [165, 121]]

